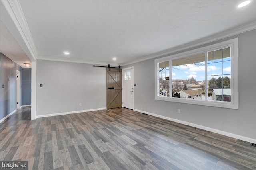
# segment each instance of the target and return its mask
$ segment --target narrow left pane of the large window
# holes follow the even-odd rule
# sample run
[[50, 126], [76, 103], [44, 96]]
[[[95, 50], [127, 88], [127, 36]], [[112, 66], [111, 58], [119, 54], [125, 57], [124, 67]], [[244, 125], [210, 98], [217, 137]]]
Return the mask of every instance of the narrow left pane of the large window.
[[170, 96], [169, 61], [158, 63], [158, 68], [159, 68], [158, 96], [169, 97]]

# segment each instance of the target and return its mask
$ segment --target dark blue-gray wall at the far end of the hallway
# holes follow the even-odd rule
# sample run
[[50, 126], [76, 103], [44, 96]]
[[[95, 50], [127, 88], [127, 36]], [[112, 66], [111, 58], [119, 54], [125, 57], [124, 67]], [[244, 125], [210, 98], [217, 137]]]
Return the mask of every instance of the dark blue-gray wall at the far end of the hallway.
[[22, 69], [22, 105], [31, 105], [31, 68]]

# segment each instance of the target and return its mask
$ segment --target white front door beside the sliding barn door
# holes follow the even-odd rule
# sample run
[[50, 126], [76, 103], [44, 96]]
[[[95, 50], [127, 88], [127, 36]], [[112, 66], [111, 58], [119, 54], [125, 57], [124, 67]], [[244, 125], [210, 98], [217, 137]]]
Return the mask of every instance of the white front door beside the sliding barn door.
[[122, 106], [128, 109], [134, 107], [133, 67], [122, 69]]

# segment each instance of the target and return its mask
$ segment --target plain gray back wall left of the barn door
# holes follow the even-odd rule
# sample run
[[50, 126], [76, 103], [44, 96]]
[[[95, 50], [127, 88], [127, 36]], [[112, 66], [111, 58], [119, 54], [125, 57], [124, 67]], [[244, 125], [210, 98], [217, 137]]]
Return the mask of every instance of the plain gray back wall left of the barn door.
[[106, 108], [106, 68], [37, 60], [36, 69], [37, 116]]

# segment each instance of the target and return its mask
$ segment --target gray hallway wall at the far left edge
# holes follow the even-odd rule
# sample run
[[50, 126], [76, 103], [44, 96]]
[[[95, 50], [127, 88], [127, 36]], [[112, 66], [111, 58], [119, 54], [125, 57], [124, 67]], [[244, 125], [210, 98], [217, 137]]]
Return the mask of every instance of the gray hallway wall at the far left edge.
[[16, 70], [22, 67], [0, 53], [0, 120], [16, 109]]

